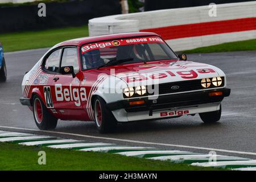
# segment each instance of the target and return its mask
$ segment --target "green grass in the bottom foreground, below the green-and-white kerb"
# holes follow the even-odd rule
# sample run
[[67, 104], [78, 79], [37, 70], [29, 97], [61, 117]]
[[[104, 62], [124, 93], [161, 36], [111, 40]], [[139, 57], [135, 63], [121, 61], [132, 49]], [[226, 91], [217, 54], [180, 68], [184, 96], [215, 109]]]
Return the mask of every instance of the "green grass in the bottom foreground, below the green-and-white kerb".
[[[46, 165], [38, 164], [38, 152], [46, 152]], [[100, 152], [0, 143], [3, 170], [220, 170]]]

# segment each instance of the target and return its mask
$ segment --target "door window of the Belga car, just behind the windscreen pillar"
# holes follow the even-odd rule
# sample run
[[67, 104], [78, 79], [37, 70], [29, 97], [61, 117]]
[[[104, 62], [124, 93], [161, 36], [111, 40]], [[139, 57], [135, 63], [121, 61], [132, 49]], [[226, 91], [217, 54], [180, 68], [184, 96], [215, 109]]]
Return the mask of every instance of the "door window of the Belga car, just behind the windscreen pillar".
[[61, 60], [61, 67], [73, 66], [75, 73], [79, 72], [77, 48], [65, 48]]

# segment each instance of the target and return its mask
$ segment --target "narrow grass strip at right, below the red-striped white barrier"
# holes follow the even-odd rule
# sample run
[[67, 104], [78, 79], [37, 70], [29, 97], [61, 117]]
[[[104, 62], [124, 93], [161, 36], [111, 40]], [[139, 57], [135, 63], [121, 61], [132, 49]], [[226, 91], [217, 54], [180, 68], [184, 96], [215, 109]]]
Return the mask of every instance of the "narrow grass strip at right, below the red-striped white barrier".
[[214, 46], [200, 47], [183, 51], [183, 53], [210, 53], [210, 52], [231, 52], [231, 51], [255, 51], [256, 39], [243, 40], [238, 42], [223, 43]]

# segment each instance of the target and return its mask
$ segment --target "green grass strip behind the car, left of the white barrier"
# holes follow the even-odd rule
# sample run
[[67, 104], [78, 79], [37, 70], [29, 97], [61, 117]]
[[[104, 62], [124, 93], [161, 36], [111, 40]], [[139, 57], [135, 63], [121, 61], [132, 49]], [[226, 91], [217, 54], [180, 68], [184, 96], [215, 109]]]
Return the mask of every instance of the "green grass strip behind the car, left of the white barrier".
[[52, 47], [64, 40], [88, 36], [88, 26], [0, 34], [5, 52]]

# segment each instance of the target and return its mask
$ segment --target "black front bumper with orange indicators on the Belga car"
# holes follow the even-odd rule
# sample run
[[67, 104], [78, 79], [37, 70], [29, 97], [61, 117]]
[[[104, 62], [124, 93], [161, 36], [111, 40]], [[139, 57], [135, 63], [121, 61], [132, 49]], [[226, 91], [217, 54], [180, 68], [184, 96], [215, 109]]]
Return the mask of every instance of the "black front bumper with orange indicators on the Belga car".
[[[212, 92], [222, 92], [221, 96], [209, 96]], [[127, 113], [136, 113], [139, 111], [148, 111], [149, 115], [155, 110], [163, 110], [175, 107], [202, 105], [221, 102], [224, 97], [230, 95], [229, 88], [200, 90], [197, 92], [169, 94], [158, 96], [158, 98], [151, 99], [150, 97], [144, 98], [131, 98], [127, 100], [115, 101], [106, 104], [109, 110], [125, 109]], [[143, 105], [130, 106], [130, 101], [144, 100]]]

